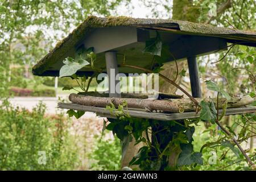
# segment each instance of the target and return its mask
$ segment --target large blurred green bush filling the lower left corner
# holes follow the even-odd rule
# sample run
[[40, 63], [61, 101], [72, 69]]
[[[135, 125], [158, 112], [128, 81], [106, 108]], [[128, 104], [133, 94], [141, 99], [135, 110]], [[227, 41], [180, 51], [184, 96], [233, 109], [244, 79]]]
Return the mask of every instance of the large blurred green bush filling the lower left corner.
[[43, 104], [31, 112], [0, 105], [0, 170], [70, 170], [80, 164], [70, 122], [45, 111]]

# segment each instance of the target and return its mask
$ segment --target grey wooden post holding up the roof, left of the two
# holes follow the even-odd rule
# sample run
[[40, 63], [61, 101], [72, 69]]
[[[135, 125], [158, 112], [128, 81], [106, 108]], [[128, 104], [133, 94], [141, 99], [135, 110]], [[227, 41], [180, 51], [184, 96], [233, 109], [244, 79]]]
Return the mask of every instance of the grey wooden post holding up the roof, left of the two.
[[[109, 97], [121, 97], [118, 65], [117, 65], [117, 52], [108, 51], [105, 52], [106, 58], [106, 71], [109, 76]], [[117, 78], [117, 79], [115, 79]]]

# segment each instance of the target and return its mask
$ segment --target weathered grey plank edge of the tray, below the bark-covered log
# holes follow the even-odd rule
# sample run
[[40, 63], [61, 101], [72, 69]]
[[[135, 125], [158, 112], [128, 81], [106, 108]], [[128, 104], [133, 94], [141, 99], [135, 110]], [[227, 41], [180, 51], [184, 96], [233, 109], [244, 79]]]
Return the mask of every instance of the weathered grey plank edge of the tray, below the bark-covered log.
[[[110, 114], [110, 111], [102, 107], [92, 107], [92, 106], [83, 106], [72, 103], [58, 103], [58, 107], [61, 109], [74, 109], [74, 110], [83, 110], [97, 113], [101, 117], [115, 118], [114, 115]], [[219, 114], [222, 113], [220, 110]], [[247, 113], [256, 113], [255, 106], [247, 107], [238, 107], [238, 108], [229, 108], [226, 109], [225, 115], [236, 115], [236, 114], [247, 114]], [[171, 121], [178, 119], [191, 119], [199, 118], [200, 112], [187, 112], [187, 113], [147, 113], [142, 110], [129, 109], [129, 114], [131, 117], [135, 118], [147, 118], [147, 119], [158, 119], [161, 121]]]

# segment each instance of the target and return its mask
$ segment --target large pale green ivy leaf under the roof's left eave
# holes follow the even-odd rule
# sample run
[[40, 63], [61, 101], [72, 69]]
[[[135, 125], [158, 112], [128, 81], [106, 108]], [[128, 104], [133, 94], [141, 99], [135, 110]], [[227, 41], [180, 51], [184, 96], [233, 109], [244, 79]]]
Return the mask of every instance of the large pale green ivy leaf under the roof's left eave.
[[90, 64], [84, 59], [74, 60], [72, 57], [67, 57], [63, 61], [64, 65], [60, 68], [60, 77], [71, 76], [75, 74], [79, 69]]

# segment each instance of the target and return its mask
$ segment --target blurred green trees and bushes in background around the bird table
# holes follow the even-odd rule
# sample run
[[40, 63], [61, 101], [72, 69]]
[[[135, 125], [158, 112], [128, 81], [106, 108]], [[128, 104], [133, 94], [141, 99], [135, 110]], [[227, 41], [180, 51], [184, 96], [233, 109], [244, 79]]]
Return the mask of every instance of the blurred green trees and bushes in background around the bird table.
[[[132, 16], [135, 6], [143, 6], [147, 10], [143, 15], [146, 18], [174, 18], [214, 26], [255, 30], [254, 0], [0, 0], [1, 170], [120, 168], [121, 148], [117, 138], [106, 133], [100, 140], [102, 119], [68, 119], [64, 113], [51, 115], [46, 113], [43, 104], [28, 111], [12, 106], [9, 97], [55, 96], [54, 78], [32, 76], [32, 65], [46, 55], [58, 40], [67, 36], [86, 16]], [[185, 13], [180, 13], [181, 11]], [[215, 12], [216, 16], [209, 16], [209, 12]], [[203, 83], [205, 79], [218, 82], [233, 96], [250, 94], [251, 97], [255, 97], [255, 48], [234, 46], [226, 56], [225, 53], [216, 53], [199, 59], [204, 97], [213, 94], [206, 90]], [[224, 56], [222, 61], [214, 63]], [[181, 67], [187, 71], [187, 65], [183, 64]], [[190, 89], [188, 71], [186, 76], [180, 79], [180, 84], [187, 90]], [[92, 89], [96, 85], [94, 80]], [[70, 78], [61, 78], [59, 86], [77, 85]], [[61, 89], [59, 94], [64, 94]], [[227, 126], [235, 127], [236, 132], [240, 133], [243, 129], [240, 125], [246, 123], [244, 119], [241, 116], [226, 117], [225, 123]], [[252, 131], [251, 136], [256, 132], [255, 122], [247, 127]], [[196, 150], [200, 150], [205, 143], [218, 139], [216, 128], [217, 126], [203, 123], [196, 127]], [[248, 142], [251, 141], [253, 140]], [[253, 144], [246, 143], [245, 146], [254, 154]], [[46, 165], [38, 163], [39, 151], [46, 151]], [[249, 169], [243, 156], [235, 154], [229, 147], [205, 148], [203, 154], [205, 165], [193, 169]], [[217, 161], [211, 165], [208, 162], [213, 155], [216, 155]]]

